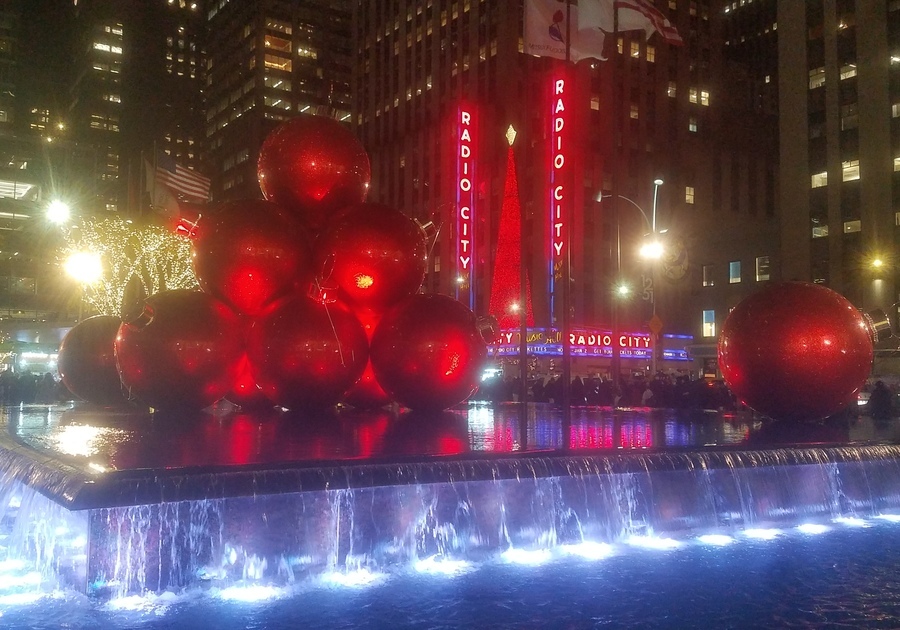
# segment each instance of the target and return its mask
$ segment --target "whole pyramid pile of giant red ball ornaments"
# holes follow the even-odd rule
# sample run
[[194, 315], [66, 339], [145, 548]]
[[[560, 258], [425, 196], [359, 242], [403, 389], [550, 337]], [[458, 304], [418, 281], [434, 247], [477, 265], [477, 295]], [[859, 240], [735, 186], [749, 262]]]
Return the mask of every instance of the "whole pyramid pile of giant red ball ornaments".
[[197, 410], [345, 402], [445, 409], [475, 391], [487, 341], [474, 313], [418, 293], [424, 230], [365, 201], [369, 159], [325, 117], [299, 117], [260, 150], [265, 200], [219, 204], [190, 229], [202, 291], [163, 291], [136, 316], [74, 326], [63, 383], [89, 402]]

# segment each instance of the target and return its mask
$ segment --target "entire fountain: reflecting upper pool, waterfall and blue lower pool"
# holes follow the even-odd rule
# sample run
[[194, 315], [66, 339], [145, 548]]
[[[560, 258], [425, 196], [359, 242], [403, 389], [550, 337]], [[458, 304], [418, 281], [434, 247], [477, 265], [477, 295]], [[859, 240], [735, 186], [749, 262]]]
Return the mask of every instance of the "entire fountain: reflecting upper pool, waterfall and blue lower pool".
[[900, 625], [896, 427], [517, 410], [6, 410], [0, 627]]

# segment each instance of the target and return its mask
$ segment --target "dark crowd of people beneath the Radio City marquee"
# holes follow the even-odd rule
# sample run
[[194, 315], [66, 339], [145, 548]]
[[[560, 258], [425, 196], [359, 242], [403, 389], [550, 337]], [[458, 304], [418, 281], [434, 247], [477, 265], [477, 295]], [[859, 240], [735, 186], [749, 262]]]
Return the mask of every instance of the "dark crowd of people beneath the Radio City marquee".
[[[518, 376], [497, 375], [482, 382], [475, 398], [491, 402], [517, 401], [522, 392]], [[563, 381], [559, 374], [536, 376], [527, 383], [528, 400], [559, 404]], [[624, 376], [616, 384], [610, 378], [575, 376], [570, 384], [572, 405], [616, 407], [668, 407], [734, 410], [738, 402], [722, 381], [691, 379], [684, 374], [658, 372], [646, 376]]]

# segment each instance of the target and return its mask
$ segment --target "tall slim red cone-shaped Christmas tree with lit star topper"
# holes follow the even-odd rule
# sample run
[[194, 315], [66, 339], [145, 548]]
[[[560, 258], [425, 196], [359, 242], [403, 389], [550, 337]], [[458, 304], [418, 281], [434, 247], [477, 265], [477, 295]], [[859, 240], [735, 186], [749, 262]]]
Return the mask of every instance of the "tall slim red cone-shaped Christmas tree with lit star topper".
[[534, 326], [531, 304], [531, 283], [526, 276], [524, 301], [522, 294], [522, 205], [519, 203], [519, 182], [513, 142], [516, 133], [512, 125], [507, 130], [509, 149], [506, 152], [506, 182], [503, 187], [503, 206], [500, 208], [500, 228], [497, 236], [497, 255], [491, 278], [490, 314], [497, 318], [500, 328], [518, 328], [522, 317], [526, 326]]

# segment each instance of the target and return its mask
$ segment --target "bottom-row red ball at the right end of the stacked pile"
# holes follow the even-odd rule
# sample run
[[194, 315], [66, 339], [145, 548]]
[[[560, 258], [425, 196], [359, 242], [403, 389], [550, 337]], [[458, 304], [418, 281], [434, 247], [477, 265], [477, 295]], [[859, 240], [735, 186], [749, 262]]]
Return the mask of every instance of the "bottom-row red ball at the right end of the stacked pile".
[[468, 398], [487, 360], [475, 314], [453, 298], [413, 295], [384, 314], [370, 348], [378, 382], [412, 409]]

